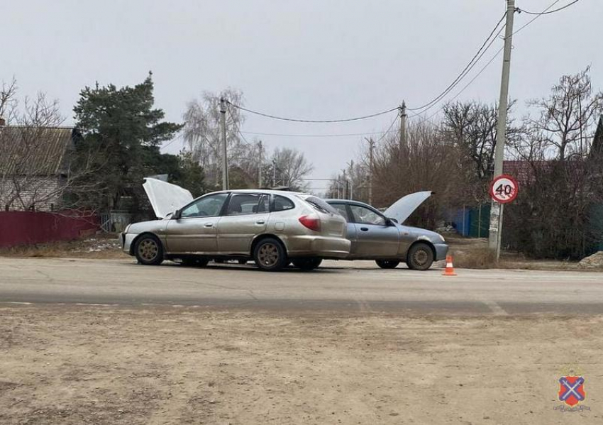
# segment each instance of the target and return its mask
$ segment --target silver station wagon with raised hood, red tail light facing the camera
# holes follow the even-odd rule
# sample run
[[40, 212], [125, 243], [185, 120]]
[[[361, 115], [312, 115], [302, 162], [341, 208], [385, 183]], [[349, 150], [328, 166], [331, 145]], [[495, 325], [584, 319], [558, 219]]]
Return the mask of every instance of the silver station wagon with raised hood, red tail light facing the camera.
[[[157, 216], [157, 199], [179, 196], [170, 186], [162, 183], [170, 193], [148, 192]], [[311, 270], [323, 258], [349, 255], [346, 231], [345, 219], [319, 198], [249, 189], [206, 194], [163, 219], [133, 223], [121, 234], [121, 243], [145, 265], [164, 259], [199, 266], [209, 260], [253, 259], [262, 270], [280, 270], [289, 263]]]

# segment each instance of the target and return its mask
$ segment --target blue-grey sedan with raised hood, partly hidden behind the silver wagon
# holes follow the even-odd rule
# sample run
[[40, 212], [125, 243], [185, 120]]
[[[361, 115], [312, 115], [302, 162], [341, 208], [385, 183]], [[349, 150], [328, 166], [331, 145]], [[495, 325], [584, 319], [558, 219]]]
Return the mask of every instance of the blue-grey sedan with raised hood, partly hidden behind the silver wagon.
[[[422, 197], [414, 196], [421, 193], [424, 194]], [[431, 192], [418, 192], [406, 199], [410, 203], [405, 203], [402, 198], [394, 204], [394, 207], [398, 206], [399, 221], [403, 223], [428, 196]], [[389, 210], [383, 214], [363, 202], [344, 199], [328, 199], [326, 202], [348, 220], [348, 238], [352, 246], [347, 260], [375, 260], [379, 267], [385, 269], [404, 262], [413, 270], [427, 270], [433, 261], [446, 258], [448, 245], [439, 233], [403, 226], [388, 216]], [[404, 204], [406, 208], [401, 207]]]

